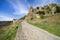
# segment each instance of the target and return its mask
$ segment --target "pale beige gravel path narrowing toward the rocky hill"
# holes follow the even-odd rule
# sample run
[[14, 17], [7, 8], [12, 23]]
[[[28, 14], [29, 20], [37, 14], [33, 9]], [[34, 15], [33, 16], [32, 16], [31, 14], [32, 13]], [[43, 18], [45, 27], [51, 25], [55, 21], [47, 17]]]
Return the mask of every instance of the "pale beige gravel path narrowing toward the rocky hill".
[[60, 40], [60, 37], [23, 21], [18, 29], [15, 40]]

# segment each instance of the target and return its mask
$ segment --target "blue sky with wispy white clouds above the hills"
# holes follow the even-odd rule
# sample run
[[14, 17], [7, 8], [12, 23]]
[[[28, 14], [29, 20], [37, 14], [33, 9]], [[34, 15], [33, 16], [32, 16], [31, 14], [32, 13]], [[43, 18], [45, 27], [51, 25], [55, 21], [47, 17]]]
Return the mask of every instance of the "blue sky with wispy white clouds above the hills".
[[0, 21], [19, 19], [27, 15], [29, 7], [60, 4], [60, 0], [0, 0]]

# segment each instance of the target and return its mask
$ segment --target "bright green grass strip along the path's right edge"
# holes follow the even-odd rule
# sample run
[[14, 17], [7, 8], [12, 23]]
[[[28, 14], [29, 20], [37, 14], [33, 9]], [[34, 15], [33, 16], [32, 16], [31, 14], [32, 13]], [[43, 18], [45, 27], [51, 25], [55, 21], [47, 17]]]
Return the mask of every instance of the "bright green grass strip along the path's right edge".
[[52, 34], [60, 37], [60, 23], [56, 23], [55, 25], [53, 25], [53, 24], [44, 25], [44, 24], [41, 24], [38, 22], [33, 23], [33, 21], [31, 21], [31, 20], [28, 23], [30, 23], [34, 26], [37, 26], [39, 28], [42, 28], [42, 29], [48, 31], [49, 33], [52, 33]]

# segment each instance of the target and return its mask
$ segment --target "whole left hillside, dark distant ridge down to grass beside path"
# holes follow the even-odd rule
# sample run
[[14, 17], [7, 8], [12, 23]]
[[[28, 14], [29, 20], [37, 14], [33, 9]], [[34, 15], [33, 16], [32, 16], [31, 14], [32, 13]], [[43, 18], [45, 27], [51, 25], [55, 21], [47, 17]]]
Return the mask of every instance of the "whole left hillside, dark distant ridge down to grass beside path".
[[14, 40], [22, 19], [0, 21], [0, 40]]

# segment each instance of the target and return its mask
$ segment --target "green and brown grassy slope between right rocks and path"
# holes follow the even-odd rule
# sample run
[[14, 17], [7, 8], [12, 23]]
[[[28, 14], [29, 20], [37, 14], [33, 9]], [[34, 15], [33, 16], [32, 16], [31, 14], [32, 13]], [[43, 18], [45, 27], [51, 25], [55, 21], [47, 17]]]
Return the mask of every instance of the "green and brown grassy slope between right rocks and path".
[[55, 34], [57, 36], [60, 36], [60, 14], [47, 18], [45, 20], [45, 23], [38, 23], [38, 22], [33, 22], [32, 20], [29, 21], [30, 24], [35, 25], [39, 28], [42, 28], [52, 34]]

